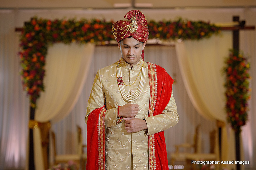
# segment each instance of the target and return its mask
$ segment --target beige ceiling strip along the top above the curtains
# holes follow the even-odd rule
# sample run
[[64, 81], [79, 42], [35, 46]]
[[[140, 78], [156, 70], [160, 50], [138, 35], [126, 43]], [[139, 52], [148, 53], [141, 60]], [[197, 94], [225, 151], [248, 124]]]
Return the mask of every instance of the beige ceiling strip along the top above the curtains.
[[256, 7], [256, 0], [0, 0], [0, 9], [20, 8], [221, 8]]

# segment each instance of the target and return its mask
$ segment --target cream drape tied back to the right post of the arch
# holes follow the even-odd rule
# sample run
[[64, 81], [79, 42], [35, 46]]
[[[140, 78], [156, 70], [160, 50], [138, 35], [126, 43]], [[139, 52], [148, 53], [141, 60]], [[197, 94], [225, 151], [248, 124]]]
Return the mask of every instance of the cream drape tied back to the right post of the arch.
[[[225, 58], [232, 48], [232, 32], [204, 40], [186, 40], [176, 44], [182, 79], [188, 96], [199, 114], [209, 120], [226, 122], [224, 67]], [[221, 160], [234, 160], [234, 132], [227, 138], [226, 126], [222, 128]], [[241, 145], [242, 147], [242, 145]], [[234, 166], [229, 166], [233, 168]]]

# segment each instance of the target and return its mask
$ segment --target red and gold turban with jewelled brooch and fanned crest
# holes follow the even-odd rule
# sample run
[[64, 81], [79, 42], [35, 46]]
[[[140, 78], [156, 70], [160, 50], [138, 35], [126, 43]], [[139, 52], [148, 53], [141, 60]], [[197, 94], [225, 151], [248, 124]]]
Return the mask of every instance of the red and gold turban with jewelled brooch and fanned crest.
[[139, 10], [132, 10], [125, 14], [129, 21], [117, 21], [112, 25], [112, 32], [117, 42], [133, 37], [140, 42], [147, 42], [149, 38], [148, 22], [144, 14]]

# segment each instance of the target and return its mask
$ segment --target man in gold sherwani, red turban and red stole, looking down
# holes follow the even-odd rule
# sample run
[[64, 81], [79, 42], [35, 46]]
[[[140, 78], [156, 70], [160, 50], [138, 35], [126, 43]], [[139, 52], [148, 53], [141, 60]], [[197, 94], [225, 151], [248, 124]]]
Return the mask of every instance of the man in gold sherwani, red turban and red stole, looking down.
[[86, 169], [169, 169], [163, 130], [179, 121], [174, 80], [144, 62], [144, 14], [132, 10], [124, 18], [112, 25], [122, 57], [98, 70], [88, 100]]

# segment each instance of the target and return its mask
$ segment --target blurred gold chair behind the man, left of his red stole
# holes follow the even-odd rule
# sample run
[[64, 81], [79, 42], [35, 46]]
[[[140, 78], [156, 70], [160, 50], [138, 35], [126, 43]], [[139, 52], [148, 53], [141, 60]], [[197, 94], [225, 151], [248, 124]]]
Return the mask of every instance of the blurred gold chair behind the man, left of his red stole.
[[54, 150], [54, 165], [58, 163], [67, 163], [68, 161], [74, 161], [77, 163], [81, 170], [85, 169], [85, 162], [87, 160], [87, 153], [84, 153], [83, 138], [82, 138], [82, 129], [77, 125], [77, 137], [78, 137], [78, 148], [76, 154], [62, 154], [58, 155], [56, 153], [56, 138], [55, 133], [52, 131], [52, 141], [53, 141], [53, 150]]

